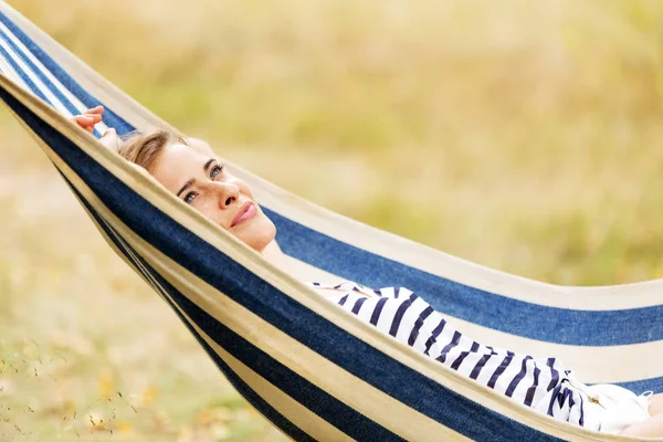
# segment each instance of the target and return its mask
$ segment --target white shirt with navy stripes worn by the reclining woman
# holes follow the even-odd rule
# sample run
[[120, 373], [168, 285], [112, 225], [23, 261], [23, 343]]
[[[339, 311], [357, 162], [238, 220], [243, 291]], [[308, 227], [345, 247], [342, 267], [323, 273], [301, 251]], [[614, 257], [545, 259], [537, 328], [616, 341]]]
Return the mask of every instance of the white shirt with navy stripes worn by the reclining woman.
[[349, 281], [311, 284], [332, 291], [326, 297], [361, 320], [517, 402], [580, 427], [600, 428], [591, 413], [587, 415], [590, 399], [555, 358], [534, 358], [476, 343], [403, 287], [371, 290]]

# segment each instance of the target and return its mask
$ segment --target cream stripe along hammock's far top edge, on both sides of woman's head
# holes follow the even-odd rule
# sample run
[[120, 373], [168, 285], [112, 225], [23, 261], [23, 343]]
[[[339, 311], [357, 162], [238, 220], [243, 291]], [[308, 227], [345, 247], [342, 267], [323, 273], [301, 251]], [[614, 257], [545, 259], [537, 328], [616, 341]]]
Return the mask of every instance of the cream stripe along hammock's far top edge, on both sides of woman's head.
[[[170, 127], [166, 122], [108, 83], [7, 3], [0, 3], [0, 10], [19, 24], [28, 35], [39, 42], [82, 86], [123, 115], [131, 125], [141, 130], [159, 126]], [[261, 204], [340, 241], [433, 275], [515, 299], [554, 307], [619, 309], [660, 305], [663, 280], [618, 286], [570, 287], [511, 275], [350, 220], [305, 201], [244, 170], [232, 161], [225, 162], [252, 187]]]

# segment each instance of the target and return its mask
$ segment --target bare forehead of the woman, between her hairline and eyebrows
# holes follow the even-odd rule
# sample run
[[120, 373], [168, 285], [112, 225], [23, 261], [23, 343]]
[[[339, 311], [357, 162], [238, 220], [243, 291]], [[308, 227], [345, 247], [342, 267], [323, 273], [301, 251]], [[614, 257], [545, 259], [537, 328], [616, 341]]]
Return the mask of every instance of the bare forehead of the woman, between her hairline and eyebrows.
[[171, 192], [187, 180], [204, 176], [203, 166], [210, 159], [189, 146], [173, 143], [164, 149], [152, 166], [152, 176]]

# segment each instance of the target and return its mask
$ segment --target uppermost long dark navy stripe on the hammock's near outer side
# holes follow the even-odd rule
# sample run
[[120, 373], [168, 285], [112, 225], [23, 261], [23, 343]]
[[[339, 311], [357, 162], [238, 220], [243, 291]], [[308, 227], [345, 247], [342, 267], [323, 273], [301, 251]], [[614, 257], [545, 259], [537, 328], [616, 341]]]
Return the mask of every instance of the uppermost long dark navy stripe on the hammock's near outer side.
[[[149, 201], [135, 193], [71, 140], [25, 108], [7, 91], [2, 90], [0, 97], [53, 148], [54, 152], [129, 229], [188, 271], [197, 274], [210, 285], [219, 287], [230, 298], [303, 345], [350, 373], [360, 377], [369, 385], [467, 438], [494, 441], [557, 440], [444, 388], [381, 354], [361, 339], [349, 335], [296, 303], [290, 296], [265, 284], [256, 275], [200, 240]], [[202, 314], [203, 312], [201, 312]], [[260, 354], [254, 354], [246, 348], [241, 348], [240, 352], [242, 351], [250, 354], [246, 361], [252, 369], [261, 368]], [[275, 379], [275, 386], [285, 391], [286, 383], [290, 381], [290, 378]], [[408, 388], [403, 388], [403, 386], [408, 386]], [[294, 397], [302, 401], [307, 399], [307, 393], [308, 391], [297, 391]], [[324, 398], [325, 394], [320, 392], [320, 396]], [[344, 418], [343, 415], [333, 415], [326, 419], [341, 428]], [[386, 417], [386, 419], [388, 418]], [[366, 422], [362, 425], [366, 425], [361, 427], [366, 429], [370, 427], [370, 423]], [[499, 434], [495, 434], [496, 428], [501, 429]]]

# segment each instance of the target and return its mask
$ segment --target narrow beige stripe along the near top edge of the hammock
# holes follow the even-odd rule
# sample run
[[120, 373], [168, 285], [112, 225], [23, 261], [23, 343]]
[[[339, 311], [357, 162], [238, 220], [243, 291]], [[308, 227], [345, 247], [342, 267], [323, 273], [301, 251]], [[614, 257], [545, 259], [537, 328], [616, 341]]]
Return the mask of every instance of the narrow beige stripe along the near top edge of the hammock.
[[[340, 325], [349, 333], [361, 337], [364, 340], [378, 348], [379, 350], [383, 351], [385, 354], [393, 357], [394, 359], [400, 360], [401, 362], [410, 367], [417, 367], [419, 371], [421, 371], [425, 376], [435, 379], [440, 383], [453, 386], [453, 389], [455, 391], [465, 397], [469, 397], [470, 399], [482, 399], [481, 402], [484, 403], [484, 406], [494, 410], [501, 409], [502, 411], [505, 411], [505, 414], [516, 419], [517, 421], [532, 427], [538, 427], [543, 431], [550, 432], [551, 434], [558, 436], [564, 435], [565, 439], [571, 440], [578, 440], [581, 436], [590, 438], [592, 440], [618, 440], [612, 436], [588, 432], [583, 429], [576, 429], [567, 423], [557, 422], [552, 418], [540, 415], [539, 413], [536, 413], [525, 408], [524, 406], [516, 404], [504, 397], [496, 396], [492, 390], [488, 390], [485, 387], [475, 385], [475, 382], [469, 379], [461, 378], [460, 375], [457, 375], [456, 372], [450, 372], [449, 369], [441, 366], [440, 364], [436, 364], [432, 360], [427, 360], [427, 358], [422, 355], [415, 354], [407, 346], [396, 344], [396, 341], [390, 340], [389, 337], [378, 336], [379, 334], [377, 333], [377, 330], [369, 329], [369, 326], [359, 323], [357, 318], [346, 314], [345, 312], [343, 312], [343, 309], [328, 305], [326, 301], [319, 299], [319, 296], [317, 296], [316, 298], [316, 295], [313, 291], [306, 288], [288, 275], [285, 275], [283, 272], [266, 265], [264, 261], [260, 259], [260, 256], [257, 256], [254, 252], [250, 251], [243, 244], [239, 243], [236, 240], [230, 236], [227, 232], [221, 231], [218, 227], [214, 227], [199, 214], [192, 213], [189, 208], [181, 204], [179, 207], [175, 206], [175, 202], [177, 201], [175, 197], [169, 196], [164, 189], [160, 189], [158, 186], [156, 186], [156, 183], [152, 180], [148, 179], [148, 177], [144, 177], [137, 173], [134, 170], [134, 168], [129, 167], [128, 165], [123, 165], [119, 157], [113, 157], [110, 152], [105, 151], [97, 143], [94, 143], [92, 138], [87, 137], [85, 133], [73, 127], [73, 125], [69, 124], [66, 120], [63, 120], [43, 103], [39, 102], [34, 97], [25, 95], [22, 91], [18, 90], [11, 84], [11, 82], [8, 82], [4, 77], [0, 78], [0, 83], [2, 83], [8, 90], [10, 90], [14, 95], [17, 95], [23, 103], [29, 105], [29, 107], [31, 107], [38, 114], [43, 116], [46, 122], [56, 124], [65, 133], [66, 136], [71, 137], [71, 139], [78, 146], [81, 146], [83, 150], [85, 150], [86, 152], [95, 157], [99, 162], [105, 165], [109, 171], [118, 176], [118, 178], [123, 179], [127, 185], [131, 186], [133, 188], [140, 189], [139, 193], [146, 196], [148, 199], [150, 199], [150, 201], [159, 206], [161, 210], [165, 210], [180, 222], [181, 220], [188, 220], [186, 221], [187, 225], [191, 228], [192, 232], [203, 238], [206, 241], [210, 242], [214, 246], [223, 249], [227, 254], [229, 254], [235, 261], [240, 262], [240, 264], [250, 269], [261, 277], [264, 277], [265, 280], [270, 281], [277, 288], [290, 293], [291, 296], [293, 296], [295, 299], [307, 305], [309, 308], [320, 313], [330, 322]], [[48, 151], [48, 147], [45, 149]], [[52, 152], [50, 152], [50, 157], [54, 161], [59, 161], [56, 157], [54, 158], [54, 155]], [[59, 164], [59, 166], [61, 165]], [[69, 172], [71, 173], [71, 171]], [[73, 177], [70, 178], [72, 178], [73, 180]], [[80, 185], [81, 182], [80, 180], [77, 180], [76, 186]], [[81, 188], [81, 190], [86, 189]], [[88, 196], [86, 194], [86, 197]], [[290, 345], [290, 343], [286, 344]], [[304, 362], [306, 365], [309, 364], [308, 360], [304, 360]], [[298, 367], [296, 367], [295, 365], [294, 368], [296, 369]], [[332, 391], [334, 390], [335, 389], [333, 386]], [[336, 389], [336, 391], [338, 392], [338, 388]], [[394, 415], [401, 418], [398, 414], [398, 410], [390, 410], [389, 418], [393, 418]], [[399, 419], [399, 422], [400, 424], [406, 427], [408, 424], [408, 421], [403, 419]], [[409, 421], [410, 424], [411, 422], [412, 421]], [[433, 433], [428, 434], [430, 435]]]

